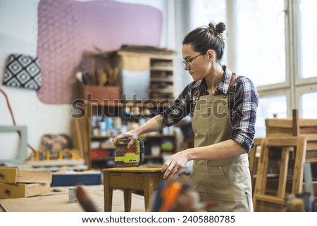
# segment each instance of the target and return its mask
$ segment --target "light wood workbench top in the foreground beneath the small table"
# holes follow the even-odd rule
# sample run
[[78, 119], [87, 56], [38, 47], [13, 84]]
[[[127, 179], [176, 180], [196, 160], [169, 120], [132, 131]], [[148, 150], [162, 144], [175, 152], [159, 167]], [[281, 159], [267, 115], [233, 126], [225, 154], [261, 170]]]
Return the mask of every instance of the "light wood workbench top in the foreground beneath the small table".
[[[51, 187], [49, 194], [32, 196], [18, 199], [1, 199], [0, 211], [4, 212], [82, 212], [84, 209], [80, 203], [68, 202], [68, 187], [61, 187], [61, 192], [54, 192]], [[104, 211], [104, 186], [93, 185], [85, 186], [85, 189], [92, 197], [93, 201]], [[113, 212], [124, 211], [123, 191], [113, 190]], [[138, 194], [132, 194], [131, 211], [144, 212], [144, 197]]]

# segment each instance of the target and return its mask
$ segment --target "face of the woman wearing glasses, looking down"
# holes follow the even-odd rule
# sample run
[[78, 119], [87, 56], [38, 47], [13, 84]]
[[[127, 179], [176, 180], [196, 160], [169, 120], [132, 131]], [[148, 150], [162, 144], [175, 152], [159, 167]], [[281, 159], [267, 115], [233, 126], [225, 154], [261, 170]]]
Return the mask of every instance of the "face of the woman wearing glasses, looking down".
[[188, 70], [194, 81], [202, 80], [209, 74], [211, 64], [207, 61], [206, 53], [196, 52], [191, 44], [184, 44], [182, 57], [185, 60], [184, 69]]

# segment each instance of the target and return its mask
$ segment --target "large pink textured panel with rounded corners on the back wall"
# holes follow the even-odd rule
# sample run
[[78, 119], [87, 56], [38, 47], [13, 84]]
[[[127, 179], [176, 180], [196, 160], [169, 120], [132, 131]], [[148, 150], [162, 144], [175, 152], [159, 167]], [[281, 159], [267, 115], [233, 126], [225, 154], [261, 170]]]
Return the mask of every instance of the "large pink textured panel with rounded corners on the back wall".
[[75, 72], [83, 51], [112, 51], [123, 44], [159, 46], [162, 14], [156, 8], [116, 1], [41, 0], [37, 56], [43, 103], [73, 101]]

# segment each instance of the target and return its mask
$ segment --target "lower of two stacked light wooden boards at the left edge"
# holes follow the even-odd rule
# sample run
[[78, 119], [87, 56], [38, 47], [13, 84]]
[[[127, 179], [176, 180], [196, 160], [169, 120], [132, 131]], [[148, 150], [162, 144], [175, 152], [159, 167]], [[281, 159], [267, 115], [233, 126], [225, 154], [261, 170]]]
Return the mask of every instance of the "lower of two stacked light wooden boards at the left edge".
[[0, 199], [15, 199], [47, 194], [50, 192], [49, 184], [3, 184], [0, 183]]

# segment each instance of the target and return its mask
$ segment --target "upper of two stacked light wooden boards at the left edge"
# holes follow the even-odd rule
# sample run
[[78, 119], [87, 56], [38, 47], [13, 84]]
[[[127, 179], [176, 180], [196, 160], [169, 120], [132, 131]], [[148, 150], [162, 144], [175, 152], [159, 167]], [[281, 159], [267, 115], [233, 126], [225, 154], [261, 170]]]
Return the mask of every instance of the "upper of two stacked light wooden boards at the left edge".
[[18, 170], [18, 168], [0, 168], [0, 183], [48, 183], [52, 180], [51, 172]]

